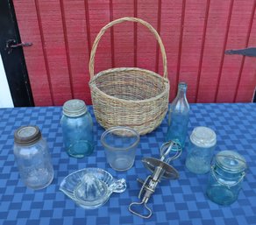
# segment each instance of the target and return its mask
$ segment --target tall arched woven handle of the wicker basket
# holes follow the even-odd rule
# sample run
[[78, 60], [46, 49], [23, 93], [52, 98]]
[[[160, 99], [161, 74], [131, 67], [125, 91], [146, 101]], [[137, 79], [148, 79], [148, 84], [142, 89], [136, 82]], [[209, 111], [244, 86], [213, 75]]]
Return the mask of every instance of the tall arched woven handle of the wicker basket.
[[108, 25], [103, 26], [102, 30], [96, 36], [96, 39], [93, 43], [93, 46], [92, 46], [92, 49], [91, 49], [91, 52], [90, 52], [90, 58], [89, 58], [90, 79], [93, 79], [93, 77], [94, 77], [94, 64], [95, 64], [96, 48], [97, 48], [98, 43], [99, 43], [100, 39], [102, 38], [104, 32], [106, 32], [106, 30], [109, 29], [111, 26], [123, 23], [124, 21], [131, 21], [131, 22], [136, 22], [136, 23], [139, 23], [141, 25], [144, 25], [149, 29], [150, 32], [153, 33], [154, 37], [158, 41], [158, 44], [160, 45], [160, 51], [161, 51], [161, 54], [162, 54], [163, 67], [164, 67], [163, 77], [167, 78], [167, 54], [166, 54], [165, 47], [162, 43], [162, 40], [160, 39], [160, 35], [158, 34], [158, 32], [153, 28], [152, 25], [148, 24], [146, 21], [144, 21], [140, 18], [118, 18], [116, 20], [111, 21]]

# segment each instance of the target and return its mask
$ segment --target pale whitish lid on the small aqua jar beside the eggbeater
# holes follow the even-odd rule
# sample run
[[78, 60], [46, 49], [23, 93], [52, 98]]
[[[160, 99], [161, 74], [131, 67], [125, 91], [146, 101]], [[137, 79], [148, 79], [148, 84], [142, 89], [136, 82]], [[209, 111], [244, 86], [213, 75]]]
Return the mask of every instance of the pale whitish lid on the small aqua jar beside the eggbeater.
[[198, 147], [210, 148], [217, 142], [216, 133], [208, 127], [196, 127], [190, 135], [190, 141]]

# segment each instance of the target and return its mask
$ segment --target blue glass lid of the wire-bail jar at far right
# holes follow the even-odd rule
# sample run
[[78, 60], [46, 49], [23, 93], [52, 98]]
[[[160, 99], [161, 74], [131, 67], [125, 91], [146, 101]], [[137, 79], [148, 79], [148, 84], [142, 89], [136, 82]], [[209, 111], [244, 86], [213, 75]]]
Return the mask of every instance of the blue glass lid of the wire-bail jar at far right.
[[245, 158], [236, 151], [220, 151], [216, 156], [218, 167], [225, 171], [236, 173], [243, 172], [246, 169]]

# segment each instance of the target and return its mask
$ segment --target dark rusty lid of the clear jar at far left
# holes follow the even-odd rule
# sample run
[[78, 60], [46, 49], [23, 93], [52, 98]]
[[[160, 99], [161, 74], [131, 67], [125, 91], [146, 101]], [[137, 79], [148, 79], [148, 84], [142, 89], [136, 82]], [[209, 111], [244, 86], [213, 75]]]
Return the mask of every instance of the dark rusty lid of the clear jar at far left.
[[14, 142], [20, 145], [36, 143], [42, 137], [41, 131], [37, 126], [22, 126], [14, 133]]

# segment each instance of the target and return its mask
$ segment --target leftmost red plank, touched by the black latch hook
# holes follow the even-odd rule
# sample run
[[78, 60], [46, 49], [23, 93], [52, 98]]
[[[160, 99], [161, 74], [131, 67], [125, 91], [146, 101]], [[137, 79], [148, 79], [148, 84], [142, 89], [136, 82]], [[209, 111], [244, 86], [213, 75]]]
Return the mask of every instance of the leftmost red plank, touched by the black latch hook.
[[13, 4], [21, 39], [33, 43], [33, 46], [24, 48], [24, 53], [35, 105], [52, 105], [35, 3], [33, 0], [16, 0]]

